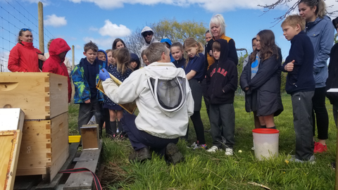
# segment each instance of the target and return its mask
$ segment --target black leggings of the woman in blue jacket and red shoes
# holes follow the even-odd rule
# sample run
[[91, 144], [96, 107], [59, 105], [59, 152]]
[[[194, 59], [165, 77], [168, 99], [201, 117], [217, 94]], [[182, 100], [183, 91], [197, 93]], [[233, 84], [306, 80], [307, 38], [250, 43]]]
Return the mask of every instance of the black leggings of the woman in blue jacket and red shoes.
[[315, 136], [315, 122], [317, 121], [318, 139], [325, 140], [328, 138], [329, 116], [325, 106], [325, 87], [316, 88], [312, 98], [313, 110], [313, 136]]

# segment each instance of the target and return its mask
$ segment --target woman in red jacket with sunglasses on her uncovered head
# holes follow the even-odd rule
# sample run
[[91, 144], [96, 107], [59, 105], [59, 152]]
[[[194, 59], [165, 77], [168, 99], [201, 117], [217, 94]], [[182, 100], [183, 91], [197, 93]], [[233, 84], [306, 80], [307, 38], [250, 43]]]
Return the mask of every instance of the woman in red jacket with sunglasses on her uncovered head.
[[8, 58], [8, 70], [11, 72], [40, 72], [39, 60], [46, 61], [41, 51], [33, 46], [32, 30], [23, 28], [19, 32], [16, 44]]

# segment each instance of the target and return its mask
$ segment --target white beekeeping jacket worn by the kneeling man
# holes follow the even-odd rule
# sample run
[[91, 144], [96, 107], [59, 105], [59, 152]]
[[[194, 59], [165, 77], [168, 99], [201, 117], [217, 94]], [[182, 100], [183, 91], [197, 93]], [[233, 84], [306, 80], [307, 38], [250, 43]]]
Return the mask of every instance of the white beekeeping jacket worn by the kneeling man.
[[[181, 79], [181, 83], [174, 83], [181, 85], [171, 86], [173, 81], [178, 81], [178, 78]], [[156, 88], [151, 85], [150, 81], [156, 80], [159, 80], [158, 91], [153, 93]], [[135, 120], [137, 129], [163, 139], [175, 139], [186, 134], [189, 116], [194, 113], [194, 100], [182, 68], [176, 68], [173, 63], [154, 62], [145, 68], [132, 72], [120, 87], [111, 79], [107, 79], [102, 84], [109, 99], [115, 103], [123, 104], [136, 101], [139, 108], [139, 115]], [[173, 92], [168, 90], [171, 89], [170, 87], [173, 87], [175, 93], [170, 93]], [[173, 96], [173, 94], [177, 94], [177, 89], [180, 87], [183, 89], [180, 91], [184, 93], [183, 96], [182, 94]], [[163, 91], [167, 94], [161, 94]], [[168, 93], [168, 91], [170, 92]], [[156, 94], [160, 101], [156, 101]], [[180, 99], [182, 97], [184, 99]], [[167, 101], [167, 98], [171, 102], [180, 103], [180, 106], [171, 111], [163, 108], [161, 103]]]

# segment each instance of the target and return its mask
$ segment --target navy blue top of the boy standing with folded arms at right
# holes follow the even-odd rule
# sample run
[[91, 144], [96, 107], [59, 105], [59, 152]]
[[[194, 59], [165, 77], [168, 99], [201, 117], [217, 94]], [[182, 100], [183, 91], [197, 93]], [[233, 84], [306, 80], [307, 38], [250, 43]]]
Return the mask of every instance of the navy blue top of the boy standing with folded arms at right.
[[282, 71], [289, 62], [294, 62], [294, 70], [287, 74], [287, 84], [285, 90], [287, 94], [299, 91], [314, 91], [315, 79], [313, 77], [314, 51], [310, 38], [305, 32], [301, 31], [291, 40], [289, 56], [282, 65]]

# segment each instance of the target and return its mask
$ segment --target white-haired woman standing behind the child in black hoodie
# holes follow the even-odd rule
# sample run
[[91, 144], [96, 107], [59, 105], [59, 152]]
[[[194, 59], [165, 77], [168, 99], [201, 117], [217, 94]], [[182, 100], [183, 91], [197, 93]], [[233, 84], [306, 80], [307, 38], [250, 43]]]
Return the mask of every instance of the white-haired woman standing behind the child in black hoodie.
[[236, 51], [236, 46], [234, 45], [234, 39], [225, 36], [225, 20], [223, 18], [223, 15], [216, 14], [213, 15], [213, 17], [210, 20], [210, 28], [209, 31], [211, 32], [211, 35], [213, 38], [209, 40], [208, 46], [206, 47], [206, 58], [208, 61], [208, 68], [211, 64], [215, 62], [215, 59], [213, 58], [212, 55], [212, 46], [213, 42], [216, 39], [225, 39], [227, 40], [227, 44], [229, 44], [229, 59], [231, 61], [234, 61], [234, 63], [237, 65], [238, 64], [238, 56], [237, 56], [237, 51]]

